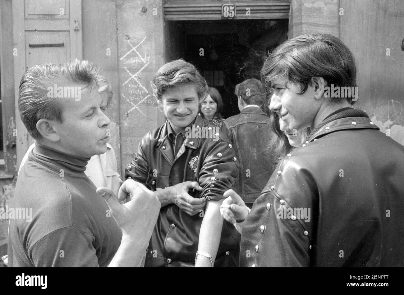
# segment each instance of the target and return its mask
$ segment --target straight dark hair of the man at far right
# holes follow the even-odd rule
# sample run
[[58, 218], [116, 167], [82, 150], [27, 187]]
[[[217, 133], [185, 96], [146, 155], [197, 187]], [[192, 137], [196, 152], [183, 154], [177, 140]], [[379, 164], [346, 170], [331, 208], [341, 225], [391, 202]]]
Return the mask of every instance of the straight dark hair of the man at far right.
[[[327, 86], [356, 87], [356, 64], [351, 50], [337, 37], [329, 34], [301, 35], [279, 45], [268, 56], [261, 70], [265, 86], [280, 80], [307, 90], [311, 77], [323, 77]], [[329, 98], [338, 102], [345, 98]], [[346, 98], [351, 105], [352, 98]]]

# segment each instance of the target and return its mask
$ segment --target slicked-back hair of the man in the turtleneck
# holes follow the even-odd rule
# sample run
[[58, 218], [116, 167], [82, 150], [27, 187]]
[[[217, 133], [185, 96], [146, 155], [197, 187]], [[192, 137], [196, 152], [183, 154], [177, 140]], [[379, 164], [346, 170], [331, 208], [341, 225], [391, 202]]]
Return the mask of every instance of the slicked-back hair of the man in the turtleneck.
[[[48, 97], [48, 87], [81, 85], [81, 89], [103, 85], [108, 100], [112, 98], [109, 82], [99, 75], [99, 67], [89, 61], [75, 60], [62, 65], [42, 64], [29, 67], [19, 86], [18, 109], [29, 135], [41, 138], [36, 129], [40, 119], [57, 120], [63, 123], [63, 105], [60, 98]], [[103, 92], [101, 91], [101, 92]]]

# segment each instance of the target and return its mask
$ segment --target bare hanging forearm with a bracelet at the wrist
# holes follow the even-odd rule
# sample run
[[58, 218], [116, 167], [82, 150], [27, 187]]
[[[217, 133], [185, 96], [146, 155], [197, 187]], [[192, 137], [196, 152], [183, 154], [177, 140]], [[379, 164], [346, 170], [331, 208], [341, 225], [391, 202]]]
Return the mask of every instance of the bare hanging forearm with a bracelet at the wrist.
[[[217, 250], [219, 249], [220, 236], [223, 227], [223, 218], [220, 215], [221, 201], [209, 201], [206, 205], [206, 212], [202, 221], [198, 251], [210, 254], [212, 261], [215, 262]], [[211, 267], [210, 259], [203, 255], [196, 257], [195, 266]]]

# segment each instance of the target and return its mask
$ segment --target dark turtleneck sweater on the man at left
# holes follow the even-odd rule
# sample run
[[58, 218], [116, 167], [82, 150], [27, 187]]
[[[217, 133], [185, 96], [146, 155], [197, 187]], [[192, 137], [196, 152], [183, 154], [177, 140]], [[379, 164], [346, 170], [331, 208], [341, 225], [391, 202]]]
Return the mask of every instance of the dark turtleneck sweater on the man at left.
[[88, 160], [40, 144], [29, 153], [11, 205], [32, 208], [32, 221], [10, 219], [11, 267], [103, 267], [111, 262], [122, 231], [84, 174]]

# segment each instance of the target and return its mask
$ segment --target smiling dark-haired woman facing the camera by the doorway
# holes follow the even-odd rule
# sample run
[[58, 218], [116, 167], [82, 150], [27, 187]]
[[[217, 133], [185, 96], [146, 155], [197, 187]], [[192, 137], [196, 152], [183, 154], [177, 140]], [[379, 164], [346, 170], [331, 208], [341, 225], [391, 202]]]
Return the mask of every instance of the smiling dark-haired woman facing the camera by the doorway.
[[223, 122], [225, 121], [220, 114], [222, 109], [223, 101], [219, 91], [217, 91], [216, 88], [209, 87], [205, 98], [200, 104], [201, 117], [212, 122], [219, 128], [222, 128]]

